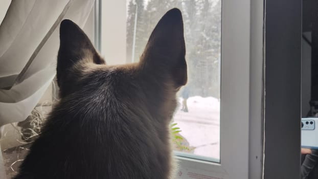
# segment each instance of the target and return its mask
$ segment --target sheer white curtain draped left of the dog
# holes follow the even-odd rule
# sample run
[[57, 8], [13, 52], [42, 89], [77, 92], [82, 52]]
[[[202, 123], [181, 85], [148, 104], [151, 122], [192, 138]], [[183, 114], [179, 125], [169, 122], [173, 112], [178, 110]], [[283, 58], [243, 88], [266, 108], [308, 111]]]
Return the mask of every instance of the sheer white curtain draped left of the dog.
[[[11, 1], [2, 23], [0, 16], [0, 127], [30, 115], [56, 73], [61, 20], [71, 19], [83, 28], [94, 3]], [[5, 178], [1, 152], [0, 178]]]

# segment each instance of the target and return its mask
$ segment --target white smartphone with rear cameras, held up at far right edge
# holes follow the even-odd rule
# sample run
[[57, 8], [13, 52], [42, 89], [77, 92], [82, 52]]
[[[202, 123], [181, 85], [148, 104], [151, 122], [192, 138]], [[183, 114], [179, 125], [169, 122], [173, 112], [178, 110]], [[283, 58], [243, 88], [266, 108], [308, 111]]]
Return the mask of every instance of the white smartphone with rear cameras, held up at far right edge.
[[318, 149], [318, 118], [302, 118], [303, 148]]

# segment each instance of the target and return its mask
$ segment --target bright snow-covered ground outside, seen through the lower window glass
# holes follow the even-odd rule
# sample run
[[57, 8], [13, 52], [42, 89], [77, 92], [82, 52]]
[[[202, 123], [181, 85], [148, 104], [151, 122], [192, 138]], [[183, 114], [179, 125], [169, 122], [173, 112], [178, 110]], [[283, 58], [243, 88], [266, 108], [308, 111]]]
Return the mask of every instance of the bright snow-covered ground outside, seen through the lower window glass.
[[174, 115], [174, 122], [182, 130], [194, 154], [220, 158], [220, 102], [213, 97], [190, 97], [188, 113], [181, 110], [182, 98]]

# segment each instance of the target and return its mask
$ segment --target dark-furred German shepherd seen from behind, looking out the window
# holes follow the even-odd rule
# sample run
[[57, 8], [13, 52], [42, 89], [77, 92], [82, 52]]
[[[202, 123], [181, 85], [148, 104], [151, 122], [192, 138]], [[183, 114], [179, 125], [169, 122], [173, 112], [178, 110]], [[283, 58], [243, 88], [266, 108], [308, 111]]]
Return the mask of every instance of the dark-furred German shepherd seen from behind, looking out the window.
[[183, 19], [168, 11], [140, 62], [107, 65], [71, 20], [60, 25], [60, 101], [20, 178], [173, 178], [170, 121], [187, 82]]

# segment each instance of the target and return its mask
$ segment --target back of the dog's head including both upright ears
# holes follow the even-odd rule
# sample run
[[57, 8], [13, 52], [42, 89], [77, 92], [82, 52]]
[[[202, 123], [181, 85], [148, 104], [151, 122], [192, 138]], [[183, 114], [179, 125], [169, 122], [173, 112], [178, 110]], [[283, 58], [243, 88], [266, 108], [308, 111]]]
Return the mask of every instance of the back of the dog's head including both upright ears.
[[104, 62], [76, 24], [63, 20], [57, 60], [60, 97], [85, 89], [87, 95], [105, 94], [131, 105], [173, 108], [174, 104], [167, 103], [174, 103], [175, 93], [187, 82], [185, 54], [183, 19], [178, 9], [168, 11], [158, 22], [139, 63], [116, 66]]

